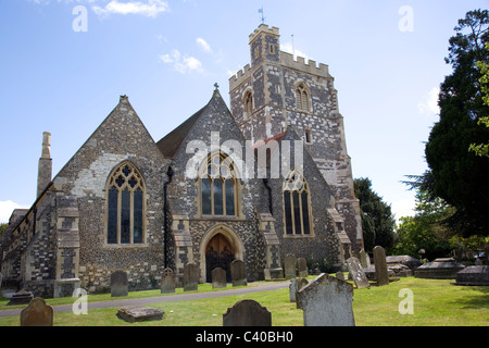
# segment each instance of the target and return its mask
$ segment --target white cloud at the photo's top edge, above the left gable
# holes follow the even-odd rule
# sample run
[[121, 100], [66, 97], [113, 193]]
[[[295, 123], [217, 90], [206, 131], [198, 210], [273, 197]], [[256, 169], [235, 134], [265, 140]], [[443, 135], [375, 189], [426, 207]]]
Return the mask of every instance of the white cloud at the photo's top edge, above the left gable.
[[170, 7], [163, 0], [148, 0], [147, 2], [120, 2], [118, 0], [112, 0], [104, 8], [93, 5], [91, 9], [100, 16], [108, 16], [110, 14], [140, 14], [148, 17], [155, 17], [160, 13], [168, 11]]

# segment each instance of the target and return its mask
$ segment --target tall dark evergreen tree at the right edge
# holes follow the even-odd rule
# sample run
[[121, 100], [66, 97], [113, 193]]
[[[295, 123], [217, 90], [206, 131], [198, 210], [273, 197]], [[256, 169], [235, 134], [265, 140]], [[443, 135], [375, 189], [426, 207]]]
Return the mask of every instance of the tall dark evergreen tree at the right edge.
[[[440, 86], [440, 120], [426, 144], [429, 171], [414, 187], [429, 189], [429, 197], [440, 198], [456, 212], [448, 217], [464, 236], [489, 233], [489, 161], [467, 151], [471, 144], [485, 144], [489, 128], [480, 120], [489, 114], [480, 92], [480, 70], [476, 62], [487, 62], [489, 51], [489, 12], [467, 12], [459, 21], [456, 35], [450, 38], [449, 57], [453, 72]], [[484, 119], [482, 119], [484, 120]]]

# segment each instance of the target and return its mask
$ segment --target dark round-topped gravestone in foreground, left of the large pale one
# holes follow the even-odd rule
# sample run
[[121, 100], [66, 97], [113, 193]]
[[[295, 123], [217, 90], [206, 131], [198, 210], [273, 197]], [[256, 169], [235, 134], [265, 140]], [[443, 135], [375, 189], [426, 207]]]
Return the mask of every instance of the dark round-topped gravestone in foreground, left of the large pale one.
[[223, 314], [223, 326], [272, 326], [272, 313], [254, 300], [241, 300]]

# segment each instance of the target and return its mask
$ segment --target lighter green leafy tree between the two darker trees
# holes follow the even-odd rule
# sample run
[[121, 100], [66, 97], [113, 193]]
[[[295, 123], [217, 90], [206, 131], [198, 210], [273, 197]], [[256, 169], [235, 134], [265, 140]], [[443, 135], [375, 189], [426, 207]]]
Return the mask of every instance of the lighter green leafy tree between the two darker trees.
[[443, 221], [455, 210], [442, 199], [429, 199], [427, 192], [418, 190], [414, 211], [414, 216], [399, 219], [393, 253], [417, 258], [423, 249], [423, 257], [428, 260], [449, 256], [452, 249], [449, 240], [454, 232]]

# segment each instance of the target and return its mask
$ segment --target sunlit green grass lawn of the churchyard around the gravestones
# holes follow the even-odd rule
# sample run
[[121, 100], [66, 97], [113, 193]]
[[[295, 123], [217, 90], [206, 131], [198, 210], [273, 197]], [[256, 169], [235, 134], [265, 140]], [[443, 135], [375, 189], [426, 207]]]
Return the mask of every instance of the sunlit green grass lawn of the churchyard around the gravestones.
[[[454, 286], [453, 281], [401, 278], [388, 286], [355, 289], [353, 311], [359, 326], [489, 326], [489, 287]], [[400, 314], [399, 291], [413, 291], [414, 314]], [[199, 291], [212, 290], [209, 284]], [[177, 294], [183, 289], [177, 289]], [[159, 290], [129, 293], [127, 298], [156, 297]], [[163, 295], [164, 296], [164, 295]], [[110, 300], [108, 295], [89, 295], [89, 301]], [[121, 299], [121, 298], [117, 298]], [[302, 310], [289, 302], [288, 289], [242, 296], [148, 304], [165, 312], [162, 321], [129, 324], [115, 316], [116, 308], [92, 309], [87, 315], [54, 313], [57, 326], [222, 326], [223, 313], [241, 299], [253, 299], [272, 312], [274, 326], [302, 326]], [[73, 298], [48, 299], [51, 306], [73, 303]], [[0, 310], [5, 307], [0, 299]], [[0, 318], [0, 326], [18, 326], [18, 316]]]

